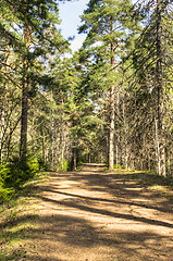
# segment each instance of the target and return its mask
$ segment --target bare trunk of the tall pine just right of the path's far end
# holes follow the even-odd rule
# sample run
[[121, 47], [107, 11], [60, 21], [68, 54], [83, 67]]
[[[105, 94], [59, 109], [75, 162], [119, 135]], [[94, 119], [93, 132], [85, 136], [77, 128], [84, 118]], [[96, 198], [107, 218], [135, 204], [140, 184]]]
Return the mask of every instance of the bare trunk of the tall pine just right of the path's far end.
[[[113, 18], [111, 17], [111, 35], [113, 34]], [[114, 66], [114, 42], [111, 41], [111, 66]], [[114, 165], [114, 98], [115, 88], [110, 88], [110, 135], [109, 135], [109, 169]]]

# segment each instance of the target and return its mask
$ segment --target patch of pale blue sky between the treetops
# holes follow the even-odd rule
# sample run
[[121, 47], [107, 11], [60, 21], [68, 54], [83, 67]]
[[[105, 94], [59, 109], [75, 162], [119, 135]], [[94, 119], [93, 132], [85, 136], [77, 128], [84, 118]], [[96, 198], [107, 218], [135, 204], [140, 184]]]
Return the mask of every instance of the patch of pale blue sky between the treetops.
[[81, 24], [79, 15], [83, 14], [83, 11], [87, 8], [89, 0], [72, 0], [70, 2], [59, 2], [60, 18], [61, 23], [61, 33], [64, 38], [70, 36], [75, 36], [71, 48], [73, 51], [78, 50], [82, 46], [85, 35], [77, 34], [77, 27]]

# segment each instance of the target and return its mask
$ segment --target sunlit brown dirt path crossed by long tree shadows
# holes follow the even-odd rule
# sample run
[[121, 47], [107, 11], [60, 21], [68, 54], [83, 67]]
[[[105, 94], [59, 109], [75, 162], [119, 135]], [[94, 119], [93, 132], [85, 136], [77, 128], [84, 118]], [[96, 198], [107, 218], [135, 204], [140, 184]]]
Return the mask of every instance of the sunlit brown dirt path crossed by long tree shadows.
[[171, 203], [126, 174], [97, 164], [53, 174], [38, 208], [24, 260], [173, 261]]

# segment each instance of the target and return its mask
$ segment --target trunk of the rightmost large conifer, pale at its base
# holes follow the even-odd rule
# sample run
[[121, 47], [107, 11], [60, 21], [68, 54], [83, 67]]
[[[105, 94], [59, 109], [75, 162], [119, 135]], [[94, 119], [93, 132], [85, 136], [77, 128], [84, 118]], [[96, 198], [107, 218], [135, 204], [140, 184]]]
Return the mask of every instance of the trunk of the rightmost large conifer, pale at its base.
[[157, 0], [157, 128], [158, 128], [158, 173], [165, 176], [165, 149], [163, 140], [163, 84], [162, 84], [162, 45], [161, 45], [161, 1]]

